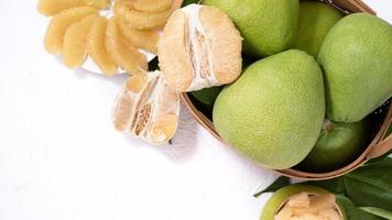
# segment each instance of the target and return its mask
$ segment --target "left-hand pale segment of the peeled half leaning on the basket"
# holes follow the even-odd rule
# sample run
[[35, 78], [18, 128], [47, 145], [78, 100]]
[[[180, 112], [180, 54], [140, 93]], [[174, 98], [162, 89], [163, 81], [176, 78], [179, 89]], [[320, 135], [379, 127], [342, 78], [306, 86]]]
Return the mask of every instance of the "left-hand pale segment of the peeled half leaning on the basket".
[[185, 91], [193, 80], [193, 66], [186, 51], [187, 18], [181, 10], [173, 12], [157, 43], [162, 74], [168, 85]]

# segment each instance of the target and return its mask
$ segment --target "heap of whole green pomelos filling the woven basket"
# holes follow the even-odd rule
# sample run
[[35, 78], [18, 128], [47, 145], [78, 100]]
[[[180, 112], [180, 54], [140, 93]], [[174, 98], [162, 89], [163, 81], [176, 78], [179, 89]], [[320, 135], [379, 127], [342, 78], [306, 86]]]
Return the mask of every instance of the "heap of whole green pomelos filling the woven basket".
[[203, 3], [233, 20], [243, 58], [254, 61], [216, 100], [215, 88], [193, 92], [214, 106], [228, 144], [269, 168], [312, 172], [340, 168], [363, 151], [367, 117], [392, 97], [391, 24], [317, 1]]

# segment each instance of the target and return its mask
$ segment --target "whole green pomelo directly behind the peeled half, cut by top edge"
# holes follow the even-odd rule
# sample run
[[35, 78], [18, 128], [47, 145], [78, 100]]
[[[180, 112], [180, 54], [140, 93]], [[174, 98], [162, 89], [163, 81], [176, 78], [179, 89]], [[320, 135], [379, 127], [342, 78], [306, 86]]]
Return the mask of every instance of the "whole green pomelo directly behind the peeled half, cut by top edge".
[[225, 11], [243, 37], [244, 53], [264, 57], [293, 46], [298, 0], [204, 0]]

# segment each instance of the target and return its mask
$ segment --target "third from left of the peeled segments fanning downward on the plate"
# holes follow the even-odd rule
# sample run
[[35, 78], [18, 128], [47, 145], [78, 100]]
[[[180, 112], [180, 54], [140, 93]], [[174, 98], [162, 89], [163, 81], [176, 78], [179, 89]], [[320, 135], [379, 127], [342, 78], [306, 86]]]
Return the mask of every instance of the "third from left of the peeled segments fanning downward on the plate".
[[87, 36], [87, 52], [97, 66], [106, 75], [113, 75], [117, 73], [117, 65], [106, 51], [107, 19], [99, 16], [92, 23]]

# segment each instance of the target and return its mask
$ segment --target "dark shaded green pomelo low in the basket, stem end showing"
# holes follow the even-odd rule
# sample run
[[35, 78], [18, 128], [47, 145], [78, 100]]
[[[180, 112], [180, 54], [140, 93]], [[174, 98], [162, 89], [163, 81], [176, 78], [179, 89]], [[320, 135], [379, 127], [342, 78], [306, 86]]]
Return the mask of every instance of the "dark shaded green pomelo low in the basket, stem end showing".
[[324, 124], [311, 154], [300, 164], [303, 170], [330, 172], [352, 162], [366, 147], [369, 128], [364, 121]]

